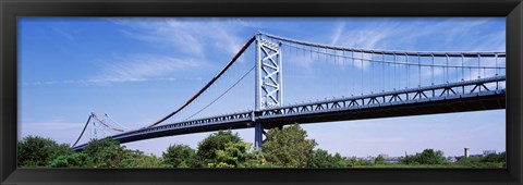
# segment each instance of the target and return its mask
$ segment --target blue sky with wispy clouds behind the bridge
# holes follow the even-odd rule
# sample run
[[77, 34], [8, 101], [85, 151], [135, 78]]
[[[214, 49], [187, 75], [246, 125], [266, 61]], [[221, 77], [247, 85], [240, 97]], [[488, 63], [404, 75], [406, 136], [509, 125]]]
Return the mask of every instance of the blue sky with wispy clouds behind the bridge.
[[[165, 116], [202, 88], [257, 30], [351, 48], [410, 51], [504, 51], [504, 18], [19, 18], [19, 137], [71, 144], [92, 111], [137, 128]], [[284, 48], [284, 103], [401, 87], [390, 71], [337, 65]], [[186, 118], [254, 65], [250, 48]], [[324, 57], [325, 58], [325, 57]], [[339, 61], [338, 61], [339, 62]], [[377, 70], [377, 71], [373, 71]], [[377, 78], [358, 74], [382, 74]], [[381, 71], [385, 72], [385, 71]], [[454, 73], [454, 72], [450, 72]], [[474, 72], [472, 72], [474, 73]], [[455, 73], [458, 74], [458, 73]], [[252, 73], [250, 73], [250, 76]], [[422, 84], [430, 75], [423, 73]], [[442, 71], [436, 70], [437, 81]], [[247, 76], [197, 116], [251, 109]], [[453, 75], [451, 75], [453, 76]], [[401, 82], [401, 81], [399, 81]], [[415, 85], [412, 81], [410, 85]], [[408, 82], [401, 82], [408, 83]], [[355, 85], [351, 85], [355, 84]], [[353, 88], [357, 86], [357, 88]], [[312, 88], [314, 87], [314, 88]], [[214, 90], [214, 91], [212, 91]], [[234, 102], [234, 103], [230, 103]], [[174, 119], [175, 121], [175, 119]], [[402, 156], [425, 148], [460, 156], [504, 151], [504, 110], [306, 124], [318, 148], [343, 156]], [[238, 130], [246, 141], [254, 130]], [[161, 155], [169, 144], [195, 147], [209, 133], [125, 144]]]

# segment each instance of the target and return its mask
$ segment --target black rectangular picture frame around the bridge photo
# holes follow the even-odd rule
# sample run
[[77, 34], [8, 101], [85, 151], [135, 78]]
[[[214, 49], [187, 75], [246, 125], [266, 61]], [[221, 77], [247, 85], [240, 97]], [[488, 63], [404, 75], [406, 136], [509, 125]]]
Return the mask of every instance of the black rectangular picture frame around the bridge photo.
[[[0, 184], [522, 184], [521, 0], [0, 0]], [[17, 169], [16, 17], [506, 16], [507, 169]]]

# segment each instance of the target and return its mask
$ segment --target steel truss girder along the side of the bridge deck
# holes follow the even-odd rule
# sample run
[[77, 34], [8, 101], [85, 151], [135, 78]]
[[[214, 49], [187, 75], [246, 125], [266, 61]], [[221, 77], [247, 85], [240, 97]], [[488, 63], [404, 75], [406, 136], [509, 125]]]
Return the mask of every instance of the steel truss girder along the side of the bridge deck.
[[[412, 89], [402, 89], [396, 91], [387, 91], [380, 94], [365, 95], [365, 96], [355, 96], [350, 98], [325, 100], [302, 104], [292, 104], [272, 109], [266, 109], [262, 111], [245, 111], [236, 112], [227, 115], [210, 116], [205, 119], [171, 123], [161, 126], [155, 126], [150, 128], [142, 128], [137, 131], [126, 132], [111, 136], [114, 139], [122, 139], [134, 137], [138, 135], [155, 134], [171, 130], [185, 130], [190, 127], [206, 127], [214, 125], [223, 125], [223, 124], [235, 124], [235, 123], [253, 123], [252, 120], [264, 120], [272, 119], [279, 116], [292, 116], [292, 115], [305, 115], [305, 114], [315, 114], [321, 112], [335, 112], [335, 111], [346, 111], [346, 110], [360, 110], [374, 107], [387, 107], [394, 104], [406, 104], [425, 101], [440, 101], [445, 99], [459, 99], [459, 98], [470, 98], [478, 96], [491, 96], [491, 95], [503, 95], [506, 94], [504, 87], [498, 87], [499, 83], [506, 82], [504, 76], [497, 76], [491, 78], [465, 81], [460, 83], [449, 83], [442, 85], [434, 85], [429, 87], [419, 87]], [[488, 84], [496, 86], [489, 87]], [[465, 90], [465, 87], [473, 88], [472, 90]], [[452, 90], [457, 92], [453, 95]], [[462, 89], [462, 90], [458, 90]], [[437, 90], [445, 91], [443, 97], [439, 97]], [[448, 92], [448, 94], [447, 94]], [[406, 94], [411, 94], [410, 99], [406, 99]], [[412, 96], [414, 95], [414, 96]], [[422, 97], [422, 98], [419, 98]], [[370, 103], [369, 103], [370, 102]], [[260, 126], [260, 125], [259, 125]], [[262, 132], [262, 127], [258, 127], [258, 131]], [[258, 135], [258, 141], [262, 135]], [[86, 144], [75, 147], [74, 149], [82, 149]]]

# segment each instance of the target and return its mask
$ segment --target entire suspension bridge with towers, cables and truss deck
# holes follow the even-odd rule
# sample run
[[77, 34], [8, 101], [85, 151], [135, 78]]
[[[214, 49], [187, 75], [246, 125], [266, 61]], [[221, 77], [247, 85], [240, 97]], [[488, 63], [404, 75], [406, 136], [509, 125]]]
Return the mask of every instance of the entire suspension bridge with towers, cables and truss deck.
[[[171, 113], [134, 130], [92, 113], [72, 148], [87, 145], [77, 145], [87, 131], [92, 139], [124, 144], [253, 127], [260, 150], [264, 130], [287, 124], [504, 109], [504, 52], [355, 49], [257, 33]], [[309, 78], [309, 70], [320, 77]], [[283, 89], [291, 103], [283, 103]]]

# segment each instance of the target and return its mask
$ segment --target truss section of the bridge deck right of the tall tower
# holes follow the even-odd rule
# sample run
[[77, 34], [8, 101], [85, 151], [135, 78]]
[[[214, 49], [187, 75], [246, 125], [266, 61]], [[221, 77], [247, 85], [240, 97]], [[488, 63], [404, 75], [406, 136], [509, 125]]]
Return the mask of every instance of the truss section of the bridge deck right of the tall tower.
[[263, 118], [285, 116], [290, 114], [308, 114], [325, 111], [363, 109], [379, 106], [393, 106], [399, 103], [413, 103], [436, 101], [452, 98], [467, 98], [474, 96], [489, 96], [504, 94], [502, 86], [506, 76], [496, 76], [458, 83], [448, 83], [435, 86], [410, 88], [349, 98], [323, 100], [300, 103], [264, 110]]

